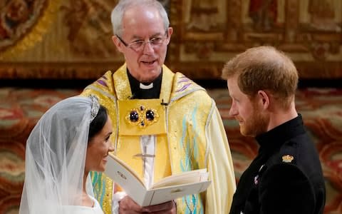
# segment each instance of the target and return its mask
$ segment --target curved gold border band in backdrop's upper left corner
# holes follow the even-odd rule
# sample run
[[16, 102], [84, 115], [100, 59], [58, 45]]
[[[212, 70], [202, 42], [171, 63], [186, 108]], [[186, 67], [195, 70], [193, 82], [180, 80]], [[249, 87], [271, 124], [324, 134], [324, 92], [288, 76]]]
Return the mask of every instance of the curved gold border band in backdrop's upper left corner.
[[4, 60], [6, 58], [14, 58], [18, 53], [26, 51], [26, 49], [41, 41], [43, 39], [43, 34], [46, 33], [48, 27], [53, 22], [60, 4], [61, 0], [48, 0], [46, 9], [42, 9], [43, 14], [38, 18], [33, 28], [28, 32], [28, 34], [24, 35], [21, 40], [17, 41], [14, 46], [5, 49], [2, 53], [0, 52], [0, 59]]

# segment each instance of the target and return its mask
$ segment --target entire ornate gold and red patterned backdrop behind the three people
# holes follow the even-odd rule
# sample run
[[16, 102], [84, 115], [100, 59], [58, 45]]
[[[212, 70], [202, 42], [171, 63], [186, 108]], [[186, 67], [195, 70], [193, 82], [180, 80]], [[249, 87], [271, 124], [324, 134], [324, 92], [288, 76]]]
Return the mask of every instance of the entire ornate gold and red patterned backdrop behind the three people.
[[[26, 139], [38, 118], [123, 63], [110, 39], [110, 11], [116, 3], [0, 1], [0, 214], [18, 213]], [[334, 86], [342, 86], [341, 0], [162, 0], [162, 4], [174, 29], [166, 60], [173, 71], [215, 85], [229, 58], [252, 46], [272, 45], [294, 60], [299, 83], [313, 79], [327, 85], [335, 80]], [[79, 80], [87, 84], [77, 86]], [[208, 92], [224, 121], [238, 181], [257, 154], [257, 144], [241, 136], [238, 124], [229, 118], [227, 88]], [[296, 106], [321, 159], [327, 189], [324, 213], [342, 213], [342, 90], [300, 88]]]

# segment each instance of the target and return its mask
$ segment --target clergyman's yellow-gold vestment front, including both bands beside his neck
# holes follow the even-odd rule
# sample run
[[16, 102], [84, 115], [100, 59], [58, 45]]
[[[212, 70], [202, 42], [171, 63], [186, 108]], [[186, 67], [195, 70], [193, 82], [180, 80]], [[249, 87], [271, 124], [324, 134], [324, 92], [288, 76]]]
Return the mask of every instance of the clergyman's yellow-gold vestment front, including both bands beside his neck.
[[[167, 71], [165, 71], [167, 70]], [[174, 73], [163, 68], [162, 89], [160, 99], [129, 99], [132, 96], [126, 67], [121, 67], [113, 74], [114, 88], [118, 98], [118, 139], [115, 145], [115, 155], [128, 163], [143, 180], [142, 158], [134, 157], [142, 153], [140, 148], [140, 136], [154, 135], [155, 161], [154, 161], [154, 181], [171, 175], [170, 155], [166, 131], [166, 106], [170, 100], [172, 88], [172, 78]], [[127, 84], [123, 84], [127, 83]], [[129, 92], [129, 93], [128, 93]], [[155, 118], [153, 121], [146, 119], [147, 111], [153, 111]], [[130, 121], [130, 113], [137, 113], [138, 121]], [[143, 126], [142, 126], [143, 123]]]

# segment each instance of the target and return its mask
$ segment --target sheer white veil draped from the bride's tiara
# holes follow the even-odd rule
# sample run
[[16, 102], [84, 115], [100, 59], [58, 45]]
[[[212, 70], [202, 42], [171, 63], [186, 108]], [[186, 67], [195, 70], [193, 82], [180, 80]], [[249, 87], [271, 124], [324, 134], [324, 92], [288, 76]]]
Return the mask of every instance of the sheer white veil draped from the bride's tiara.
[[[94, 102], [81, 96], [66, 98], [46, 111], [33, 128], [26, 142], [20, 214], [61, 213], [63, 205], [81, 205]], [[87, 190], [93, 195], [90, 179]]]

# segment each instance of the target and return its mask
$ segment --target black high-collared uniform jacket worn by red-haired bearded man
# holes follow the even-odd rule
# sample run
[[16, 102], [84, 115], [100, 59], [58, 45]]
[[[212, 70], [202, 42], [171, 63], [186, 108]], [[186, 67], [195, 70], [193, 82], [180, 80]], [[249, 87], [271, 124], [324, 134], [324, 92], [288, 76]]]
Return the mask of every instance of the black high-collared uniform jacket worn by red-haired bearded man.
[[256, 140], [258, 156], [239, 180], [230, 213], [323, 213], [321, 163], [301, 115]]

